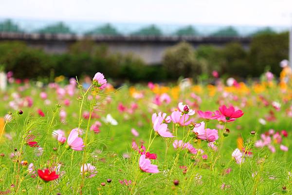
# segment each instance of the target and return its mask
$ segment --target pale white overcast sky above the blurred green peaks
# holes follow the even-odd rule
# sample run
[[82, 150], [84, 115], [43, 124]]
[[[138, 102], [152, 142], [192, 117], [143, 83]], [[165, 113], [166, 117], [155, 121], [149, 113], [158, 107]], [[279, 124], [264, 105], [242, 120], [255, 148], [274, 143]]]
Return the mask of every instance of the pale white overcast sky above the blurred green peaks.
[[0, 18], [288, 26], [292, 0], [0, 0]]

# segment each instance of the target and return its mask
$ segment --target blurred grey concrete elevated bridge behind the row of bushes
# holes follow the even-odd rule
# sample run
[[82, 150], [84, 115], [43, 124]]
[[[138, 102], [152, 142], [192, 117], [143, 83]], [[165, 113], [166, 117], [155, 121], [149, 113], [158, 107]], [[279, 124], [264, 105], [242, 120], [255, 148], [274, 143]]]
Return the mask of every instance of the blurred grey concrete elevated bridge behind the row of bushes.
[[165, 50], [181, 41], [194, 48], [202, 44], [222, 47], [230, 42], [239, 42], [248, 48], [251, 37], [245, 36], [176, 36], [176, 35], [73, 35], [0, 32], [0, 41], [23, 41], [29, 46], [47, 53], [65, 53], [71, 44], [91, 39], [97, 44], [106, 44], [110, 53], [133, 53], [147, 64], [160, 63]]

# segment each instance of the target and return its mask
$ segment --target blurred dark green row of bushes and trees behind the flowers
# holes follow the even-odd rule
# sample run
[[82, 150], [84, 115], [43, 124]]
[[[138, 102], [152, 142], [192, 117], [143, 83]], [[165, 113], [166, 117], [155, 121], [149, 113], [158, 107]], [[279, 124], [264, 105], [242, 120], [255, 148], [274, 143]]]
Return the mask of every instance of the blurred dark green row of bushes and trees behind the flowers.
[[[105, 26], [98, 32], [105, 29], [112, 31], [110, 26]], [[194, 33], [185, 29], [179, 34], [186, 31]], [[140, 33], [147, 33], [147, 29]], [[107, 78], [130, 82], [169, 81], [180, 76], [197, 79], [200, 74], [211, 76], [212, 71], [245, 79], [258, 77], [267, 69], [279, 75], [279, 62], [288, 58], [288, 39], [288, 33], [275, 34], [267, 29], [253, 36], [249, 48], [235, 42], [223, 47], [201, 45], [194, 49], [182, 42], [170, 47], [164, 53], [162, 64], [156, 65], [146, 65], [131, 53], [109, 53], [106, 45], [91, 40], [73, 43], [62, 54], [45, 53], [24, 42], [4, 41], [0, 42], [0, 64], [6, 71], [13, 71], [16, 78], [30, 79], [50, 77], [52, 73], [67, 77], [92, 75], [96, 71], [103, 72]]]

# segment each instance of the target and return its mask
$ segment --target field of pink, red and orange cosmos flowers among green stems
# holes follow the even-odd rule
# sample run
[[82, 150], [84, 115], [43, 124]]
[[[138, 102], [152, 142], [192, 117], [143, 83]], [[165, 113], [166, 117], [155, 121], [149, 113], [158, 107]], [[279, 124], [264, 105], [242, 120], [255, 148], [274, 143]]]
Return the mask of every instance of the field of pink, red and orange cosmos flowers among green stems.
[[91, 76], [0, 92], [0, 195], [292, 194], [289, 82]]

